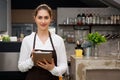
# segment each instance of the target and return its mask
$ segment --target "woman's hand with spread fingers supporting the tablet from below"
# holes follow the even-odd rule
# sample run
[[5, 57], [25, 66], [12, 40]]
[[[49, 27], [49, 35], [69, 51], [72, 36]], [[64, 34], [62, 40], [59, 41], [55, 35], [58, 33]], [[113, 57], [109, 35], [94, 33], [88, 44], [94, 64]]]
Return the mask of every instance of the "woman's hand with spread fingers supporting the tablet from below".
[[46, 69], [46, 70], [52, 70], [55, 67], [53, 58], [52, 58], [52, 62], [51, 63], [49, 63], [46, 59], [44, 59], [43, 62], [38, 61], [37, 65], [42, 67], [42, 68], [44, 68], [44, 69]]

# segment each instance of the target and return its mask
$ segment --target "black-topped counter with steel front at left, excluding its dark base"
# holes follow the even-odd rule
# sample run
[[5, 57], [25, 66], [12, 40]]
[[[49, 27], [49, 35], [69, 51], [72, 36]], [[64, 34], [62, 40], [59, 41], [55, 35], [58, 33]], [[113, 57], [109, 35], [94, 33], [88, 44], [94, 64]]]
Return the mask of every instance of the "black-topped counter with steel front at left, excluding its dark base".
[[21, 42], [0, 42], [0, 71], [18, 71]]

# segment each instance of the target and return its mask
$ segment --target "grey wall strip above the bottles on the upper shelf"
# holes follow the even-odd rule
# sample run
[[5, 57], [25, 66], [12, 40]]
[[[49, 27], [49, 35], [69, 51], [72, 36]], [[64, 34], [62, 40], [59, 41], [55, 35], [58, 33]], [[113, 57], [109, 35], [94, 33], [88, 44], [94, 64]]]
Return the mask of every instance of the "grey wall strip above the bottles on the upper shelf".
[[120, 14], [120, 12], [115, 8], [58, 8], [57, 9], [57, 23], [62, 24], [63, 21], [69, 18], [77, 17], [79, 13], [93, 13], [99, 14], [100, 16], [107, 16], [112, 14]]

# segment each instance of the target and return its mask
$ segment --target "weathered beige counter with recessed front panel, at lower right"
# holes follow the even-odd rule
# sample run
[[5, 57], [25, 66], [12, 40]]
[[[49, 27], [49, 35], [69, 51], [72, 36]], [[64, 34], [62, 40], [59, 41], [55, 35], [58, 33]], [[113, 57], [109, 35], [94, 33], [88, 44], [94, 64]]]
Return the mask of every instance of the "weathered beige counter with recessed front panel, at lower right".
[[[91, 74], [88, 74], [90, 72]], [[104, 74], [105, 72], [107, 74]], [[80, 58], [75, 57], [75, 55], [71, 55], [70, 73], [72, 80], [119, 80], [120, 60], [109, 57]], [[97, 76], [96, 77], [93, 74], [98, 75], [96, 75]], [[114, 79], [114, 76], [111, 76], [112, 74], [115, 75], [116, 79]], [[101, 75], [103, 76], [107, 75], [107, 77], [103, 77]]]

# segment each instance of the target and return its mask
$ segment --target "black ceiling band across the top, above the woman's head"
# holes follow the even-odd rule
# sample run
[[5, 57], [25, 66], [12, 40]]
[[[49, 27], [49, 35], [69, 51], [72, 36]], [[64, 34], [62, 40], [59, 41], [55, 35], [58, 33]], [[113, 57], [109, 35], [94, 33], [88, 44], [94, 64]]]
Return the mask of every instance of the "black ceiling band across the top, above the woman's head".
[[35, 9], [46, 3], [52, 9], [57, 7], [108, 7], [100, 0], [11, 0], [12, 9]]

